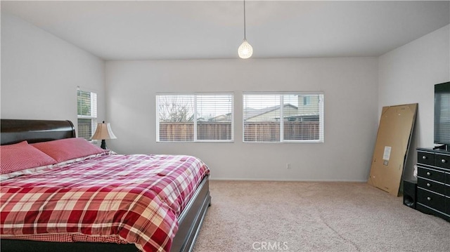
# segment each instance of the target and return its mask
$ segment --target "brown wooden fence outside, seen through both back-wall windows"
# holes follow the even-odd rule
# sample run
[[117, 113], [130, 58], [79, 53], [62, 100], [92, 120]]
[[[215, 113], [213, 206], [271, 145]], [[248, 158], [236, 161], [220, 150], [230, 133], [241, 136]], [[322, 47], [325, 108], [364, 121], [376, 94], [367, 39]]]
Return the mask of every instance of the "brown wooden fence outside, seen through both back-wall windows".
[[[193, 122], [160, 123], [160, 141], [193, 141]], [[279, 122], [245, 122], [245, 142], [278, 142], [280, 140]], [[231, 140], [231, 122], [198, 122], [198, 140]], [[319, 139], [318, 121], [285, 121], [285, 140]]]

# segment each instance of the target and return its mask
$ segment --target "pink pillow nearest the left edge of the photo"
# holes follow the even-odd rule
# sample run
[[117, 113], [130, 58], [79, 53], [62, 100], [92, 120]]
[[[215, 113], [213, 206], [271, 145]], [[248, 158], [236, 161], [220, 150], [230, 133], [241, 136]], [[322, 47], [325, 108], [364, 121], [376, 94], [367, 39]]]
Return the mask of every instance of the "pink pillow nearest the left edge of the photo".
[[55, 159], [32, 147], [27, 141], [14, 145], [1, 145], [0, 148], [1, 174], [56, 164]]

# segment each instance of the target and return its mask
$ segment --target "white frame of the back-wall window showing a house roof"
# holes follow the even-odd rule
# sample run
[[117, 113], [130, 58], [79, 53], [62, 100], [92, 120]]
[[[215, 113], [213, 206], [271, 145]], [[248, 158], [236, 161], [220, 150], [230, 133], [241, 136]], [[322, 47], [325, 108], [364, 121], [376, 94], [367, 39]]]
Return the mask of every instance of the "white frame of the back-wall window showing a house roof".
[[[283, 118], [284, 110], [284, 95], [319, 95], [319, 139], [317, 140], [286, 140], [284, 135], [284, 120], [280, 119], [280, 140], [278, 141], [248, 141], [245, 140], [245, 95], [279, 95], [280, 102], [280, 117]], [[310, 99], [307, 99], [310, 101]], [[324, 108], [325, 108], [325, 98], [323, 91], [281, 91], [281, 92], [252, 92], [245, 91], [242, 95], [242, 141], [244, 143], [321, 143], [325, 142], [325, 128], [324, 128]]]

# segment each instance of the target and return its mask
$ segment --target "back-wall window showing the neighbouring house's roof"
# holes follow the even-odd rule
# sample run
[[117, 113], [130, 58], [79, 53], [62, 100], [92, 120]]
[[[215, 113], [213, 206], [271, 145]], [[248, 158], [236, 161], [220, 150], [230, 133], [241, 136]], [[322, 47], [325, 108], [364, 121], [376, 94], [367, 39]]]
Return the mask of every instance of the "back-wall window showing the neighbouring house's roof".
[[244, 93], [244, 142], [323, 142], [323, 93]]

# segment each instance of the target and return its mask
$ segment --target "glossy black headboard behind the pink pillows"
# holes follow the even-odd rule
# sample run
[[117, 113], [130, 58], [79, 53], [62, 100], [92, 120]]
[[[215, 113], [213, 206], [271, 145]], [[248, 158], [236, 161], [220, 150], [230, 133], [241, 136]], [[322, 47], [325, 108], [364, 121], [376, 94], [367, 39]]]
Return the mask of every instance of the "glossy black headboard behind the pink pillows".
[[75, 138], [71, 121], [1, 119], [0, 131], [1, 145]]

